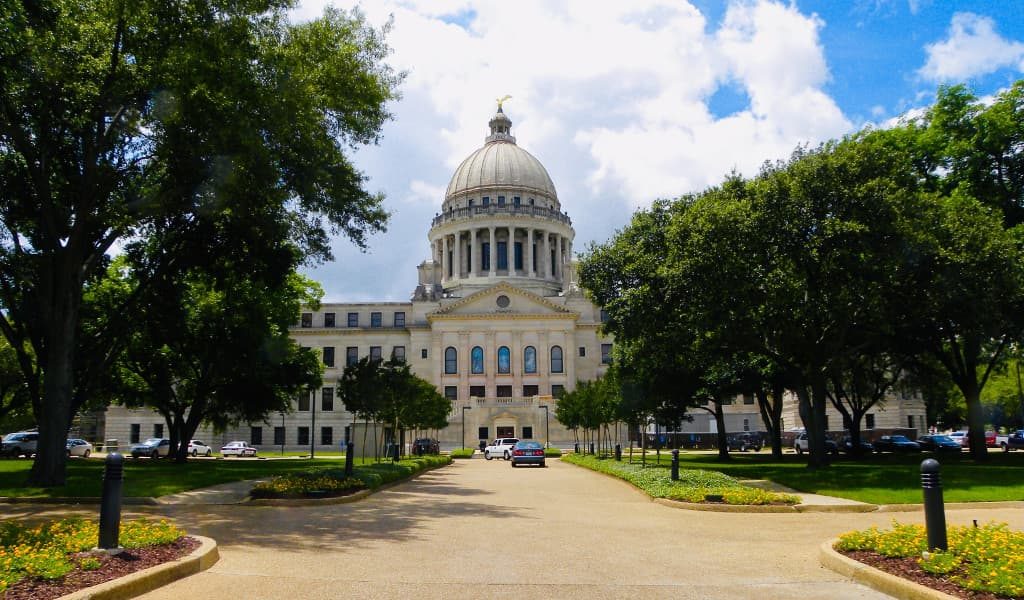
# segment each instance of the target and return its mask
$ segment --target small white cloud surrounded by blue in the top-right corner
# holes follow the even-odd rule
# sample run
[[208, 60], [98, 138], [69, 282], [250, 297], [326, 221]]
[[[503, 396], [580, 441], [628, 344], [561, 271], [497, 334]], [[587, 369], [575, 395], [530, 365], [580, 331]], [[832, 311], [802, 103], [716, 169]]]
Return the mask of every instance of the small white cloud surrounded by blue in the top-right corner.
[[928, 81], [963, 81], [1005, 67], [1024, 71], [1024, 44], [999, 36], [995, 23], [972, 12], [957, 12], [949, 37], [925, 47], [928, 61], [919, 74]]

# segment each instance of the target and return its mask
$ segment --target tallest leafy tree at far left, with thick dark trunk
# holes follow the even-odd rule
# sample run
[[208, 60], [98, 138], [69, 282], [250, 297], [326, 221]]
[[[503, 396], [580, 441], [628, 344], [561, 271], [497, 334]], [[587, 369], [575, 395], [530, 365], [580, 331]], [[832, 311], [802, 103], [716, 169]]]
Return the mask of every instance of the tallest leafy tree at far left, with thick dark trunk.
[[[106, 253], [153, 226], [185, 232], [198, 215], [245, 212], [245, 183], [276, 203], [303, 258], [331, 257], [329, 230], [364, 245], [386, 214], [344, 151], [377, 140], [400, 76], [357, 12], [290, 25], [283, 0], [6, 6], [0, 329], [37, 357], [32, 480], [59, 485], [76, 390], [104, 367], [80, 368], [80, 333], [83, 289]], [[164, 264], [180, 251], [166, 248]], [[127, 336], [104, 334], [89, 342]]]

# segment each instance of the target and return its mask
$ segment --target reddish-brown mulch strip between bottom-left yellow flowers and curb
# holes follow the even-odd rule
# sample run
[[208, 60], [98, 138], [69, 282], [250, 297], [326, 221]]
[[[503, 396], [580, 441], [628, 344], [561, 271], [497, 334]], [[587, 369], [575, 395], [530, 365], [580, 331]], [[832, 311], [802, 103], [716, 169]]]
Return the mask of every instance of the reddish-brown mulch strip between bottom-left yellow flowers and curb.
[[[180, 538], [170, 544], [148, 546], [146, 548], [132, 548], [114, 556], [95, 554], [92, 556], [95, 556], [100, 561], [100, 566], [97, 569], [88, 571], [76, 569], [63, 577], [53, 581], [22, 580], [10, 588], [7, 588], [6, 593], [0, 593], [0, 598], [4, 600], [50, 600], [52, 598], [59, 598], [84, 588], [181, 558], [199, 548], [199, 540], [195, 538]], [[88, 555], [88, 553], [81, 553], [75, 556]]]

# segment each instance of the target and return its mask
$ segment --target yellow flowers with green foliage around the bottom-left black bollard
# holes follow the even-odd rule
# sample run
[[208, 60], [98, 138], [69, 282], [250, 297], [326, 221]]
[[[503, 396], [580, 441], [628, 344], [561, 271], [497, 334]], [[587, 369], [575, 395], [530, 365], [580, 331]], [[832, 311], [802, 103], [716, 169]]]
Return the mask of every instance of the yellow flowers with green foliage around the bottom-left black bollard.
[[[183, 537], [184, 531], [167, 520], [130, 520], [122, 521], [119, 543], [126, 549], [142, 549], [179, 544]], [[0, 596], [40, 597], [43, 594], [32, 591], [37, 582], [61, 590], [66, 577], [104, 568], [110, 557], [87, 554], [98, 539], [98, 522], [83, 519], [0, 523]]]

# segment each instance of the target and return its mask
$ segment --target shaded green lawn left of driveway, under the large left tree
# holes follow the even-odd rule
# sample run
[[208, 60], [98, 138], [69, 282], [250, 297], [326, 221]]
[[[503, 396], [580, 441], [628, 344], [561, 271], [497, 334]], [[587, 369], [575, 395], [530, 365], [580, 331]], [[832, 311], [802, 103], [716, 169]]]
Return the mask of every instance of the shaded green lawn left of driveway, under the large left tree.
[[[372, 464], [373, 459], [356, 460], [355, 464]], [[188, 461], [178, 465], [171, 461], [148, 459], [125, 461], [125, 497], [158, 497], [177, 494], [242, 479], [259, 479], [295, 471], [317, 468], [344, 468], [344, 459], [253, 461], [216, 460]], [[0, 496], [41, 496], [46, 498], [99, 497], [102, 491], [103, 461], [101, 459], [68, 462], [68, 481], [62, 487], [29, 487], [25, 481], [32, 468], [27, 459], [0, 460]]]

